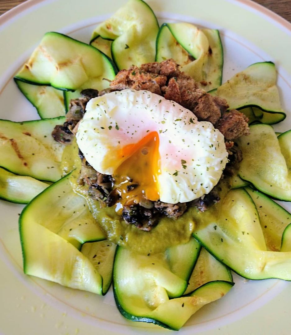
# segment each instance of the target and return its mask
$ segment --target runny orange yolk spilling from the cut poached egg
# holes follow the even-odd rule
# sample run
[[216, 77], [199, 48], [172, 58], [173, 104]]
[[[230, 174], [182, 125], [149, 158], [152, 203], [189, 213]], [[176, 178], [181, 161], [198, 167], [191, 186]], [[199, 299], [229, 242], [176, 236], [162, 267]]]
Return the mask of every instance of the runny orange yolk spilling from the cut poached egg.
[[157, 175], [159, 170], [159, 135], [151, 132], [138, 143], [121, 149], [121, 157], [128, 157], [113, 174], [116, 191], [121, 199], [116, 211], [123, 205], [139, 203], [143, 198], [156, 201], [160, 198]]

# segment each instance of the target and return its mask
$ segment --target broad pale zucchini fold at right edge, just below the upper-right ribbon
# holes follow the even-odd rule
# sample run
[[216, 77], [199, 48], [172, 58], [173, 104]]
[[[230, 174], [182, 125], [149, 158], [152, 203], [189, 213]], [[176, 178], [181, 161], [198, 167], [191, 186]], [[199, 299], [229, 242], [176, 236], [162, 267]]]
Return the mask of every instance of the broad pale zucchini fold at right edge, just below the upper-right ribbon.
[[237, 142], [243, 155], [239, 177], [275, 199], [291, 201], [290, 172], [273, 128], [252, 125], [250, 135]]

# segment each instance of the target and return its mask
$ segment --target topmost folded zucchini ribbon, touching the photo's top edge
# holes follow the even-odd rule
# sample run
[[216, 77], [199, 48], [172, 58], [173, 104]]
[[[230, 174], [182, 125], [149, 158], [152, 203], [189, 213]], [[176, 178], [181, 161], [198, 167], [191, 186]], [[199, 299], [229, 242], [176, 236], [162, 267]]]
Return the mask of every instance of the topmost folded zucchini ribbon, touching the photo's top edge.
[[121, 70], [154, 62], [158, 31], [157, 18], [149, 5], [142, 0], [129, 0], [97, 26], [92, 40], [98, 36], [113, 40], [112, 59]]

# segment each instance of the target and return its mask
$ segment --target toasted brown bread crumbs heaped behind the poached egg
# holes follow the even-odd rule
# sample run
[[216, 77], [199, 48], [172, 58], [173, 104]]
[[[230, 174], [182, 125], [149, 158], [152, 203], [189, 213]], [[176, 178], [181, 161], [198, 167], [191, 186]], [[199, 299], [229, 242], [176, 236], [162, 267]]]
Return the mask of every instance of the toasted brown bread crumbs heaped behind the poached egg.
[[232, 141], [248, 134], [247, 118], [237, 111], [226, 113], [229, 107], [226, 100], [198, 88], [193, 78], [179, 71], [173, 59], [119, 71], [111, 81], [110, 89], [115, 91], [126, 88], [145, 89], [175, 101], [192, 111], [198, 121], [217, 125], [216, 128], [226, 140]]

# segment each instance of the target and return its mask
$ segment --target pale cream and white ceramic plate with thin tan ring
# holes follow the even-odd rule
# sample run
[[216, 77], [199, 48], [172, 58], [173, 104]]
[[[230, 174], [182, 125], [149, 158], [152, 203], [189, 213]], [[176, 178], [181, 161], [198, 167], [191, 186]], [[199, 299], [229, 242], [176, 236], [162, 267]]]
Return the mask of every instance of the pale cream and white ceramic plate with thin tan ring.
[[[47, 31], [59, 31], [89, 42], [97, 23], [123, 0], [30, 0], [0, 18], [0, 117], [37, 119], [36, 110], [16, 88], [12, 77]], [[258, 61], [274, 61], [287, 113], [277, 131], [291, 128], [291, 24], [251, 1], [148, 1], [160, 22], [188, 21], [218, 28], [224, 46], [223, 80]], [[289, 204], [283, 206], [291, 209]], [[0, 332], [2, 334], [169, 334], [158, 326], [133, 323], [105, 297], [62, 287], [22, 273], [18, 214], [23, 206], [1, 201]], [[289, 207], [289, 208], [288, 208]], [[289, 334], [291, 285], [269, 279], [235, 286], [222, 299], [198, 311], [181, 334]]]

